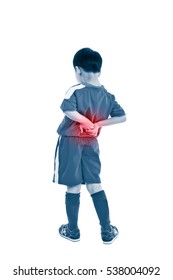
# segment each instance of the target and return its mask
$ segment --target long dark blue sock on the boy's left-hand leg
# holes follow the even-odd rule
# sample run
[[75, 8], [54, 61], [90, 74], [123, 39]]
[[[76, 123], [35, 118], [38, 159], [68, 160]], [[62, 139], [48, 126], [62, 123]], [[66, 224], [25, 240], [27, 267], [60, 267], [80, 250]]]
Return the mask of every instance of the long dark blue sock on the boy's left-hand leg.
[[68, 218], [68, 226], [70, 230], [78, 228], [78, 212], [80, 205], [79, 193], [66, 193], [66, 213]]

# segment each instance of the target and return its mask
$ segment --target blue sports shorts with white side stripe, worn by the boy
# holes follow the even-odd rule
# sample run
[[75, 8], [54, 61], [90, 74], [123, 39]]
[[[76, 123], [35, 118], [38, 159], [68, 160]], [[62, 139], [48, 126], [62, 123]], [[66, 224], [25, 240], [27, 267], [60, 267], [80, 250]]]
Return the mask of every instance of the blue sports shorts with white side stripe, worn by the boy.
[[60, 136], [55, 150], [53, 182], [68, 187], [100, 183], [99, 153], [96, 138]]

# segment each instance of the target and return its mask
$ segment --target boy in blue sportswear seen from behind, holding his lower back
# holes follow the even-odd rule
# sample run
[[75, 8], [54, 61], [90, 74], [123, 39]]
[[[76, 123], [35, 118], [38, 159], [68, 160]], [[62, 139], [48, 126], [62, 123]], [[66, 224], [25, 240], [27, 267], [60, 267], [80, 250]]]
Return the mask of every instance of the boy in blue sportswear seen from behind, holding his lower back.
[[[86, 184], [101, 225], [103, 243], [110, 244], [118, 229], [110, 224], [109, 206], [101, 186], [97, 137], [103, 126], [126, 120], [125, 112], [99, 82], [102, 57], [90, 48], [79, 50], [73, 58], [79, 84], [71, 87], [61, 104], [65, 117], [58, 127], [54, 182], [67, 186], [65, 196], [68, 224], [59, 234], [71, 241], [80, 240], [78, 211], [81, 184]], [[111, 116], [111, 118], [108, 118]]]

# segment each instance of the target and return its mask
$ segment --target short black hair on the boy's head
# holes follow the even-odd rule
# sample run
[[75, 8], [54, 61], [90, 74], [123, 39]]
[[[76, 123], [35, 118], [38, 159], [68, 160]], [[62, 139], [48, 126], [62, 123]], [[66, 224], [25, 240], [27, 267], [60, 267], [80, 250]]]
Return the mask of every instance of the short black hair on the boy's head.
[[83, 48], [74, 55], [73, 66], [81, 67], [86, 72], [98, 73], [102, 67], [102, 57], [90, 48]]

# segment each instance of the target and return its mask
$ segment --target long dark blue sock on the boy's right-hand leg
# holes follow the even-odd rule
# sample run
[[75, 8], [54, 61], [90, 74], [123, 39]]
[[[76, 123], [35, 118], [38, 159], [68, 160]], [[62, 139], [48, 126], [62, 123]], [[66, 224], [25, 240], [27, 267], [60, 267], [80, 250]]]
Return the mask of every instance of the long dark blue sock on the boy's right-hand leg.
[[105, 192], [99, 191], [92, 194], [91, 197], [102, 229], [110, 230], [109, 206]]

